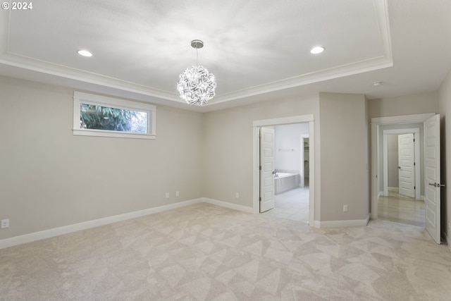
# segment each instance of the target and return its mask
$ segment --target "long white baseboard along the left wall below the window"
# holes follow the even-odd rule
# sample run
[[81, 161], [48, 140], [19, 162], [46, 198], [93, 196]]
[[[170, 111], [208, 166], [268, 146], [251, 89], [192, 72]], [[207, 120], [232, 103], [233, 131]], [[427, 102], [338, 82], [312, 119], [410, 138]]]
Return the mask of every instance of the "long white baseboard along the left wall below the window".
[[92, 221], [84, 221], [82, 223], [74, 223], [73, 225], [62, 226], [58, 228], [53, 228], [49, 230], [39, 231], [35, 233], [29, 233], [25, 235], [15, 236], [13, 238], [5, 238], [0, 240], [0, 249], [4, 249], [6, 247], [13, 247], [15, 245], [22, 245], [23, 243], [33, 242], [36, 240], [42, 240], [45, 238], [52, 238], [54, 236], [63, 235], [67, 233], [73, 233], [76, 231], [86, 230], [89, 228], [94, 228], [98, 226], [104, 226], [109, 223], [116, 223], [117, 221], [125, 221], [127, 219], [135, 219], [137, 217], [146, 216], [149, 214], [156, 214], [162, 211], [176, 209], [180, 207], [189, 206], [192, 204], [197, 204], [204, 202], [203, 198], [199, 199], [190, 199], [185, 202], [178, 202], [174, 204], [168, 204], [164, 206], [133, 211], [125, 214], [119, 214], [115, 216], [104, 217], [103, 219], [94, 219]]

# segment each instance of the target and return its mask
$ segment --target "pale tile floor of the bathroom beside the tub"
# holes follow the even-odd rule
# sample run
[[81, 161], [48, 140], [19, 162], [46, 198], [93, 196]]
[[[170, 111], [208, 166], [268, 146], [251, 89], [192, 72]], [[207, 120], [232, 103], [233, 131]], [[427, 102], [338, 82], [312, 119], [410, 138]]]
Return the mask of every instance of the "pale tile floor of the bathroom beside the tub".
[[264, 214], [309, 223], [309, 187], [295, 188], [275, 195], [274, 209]]

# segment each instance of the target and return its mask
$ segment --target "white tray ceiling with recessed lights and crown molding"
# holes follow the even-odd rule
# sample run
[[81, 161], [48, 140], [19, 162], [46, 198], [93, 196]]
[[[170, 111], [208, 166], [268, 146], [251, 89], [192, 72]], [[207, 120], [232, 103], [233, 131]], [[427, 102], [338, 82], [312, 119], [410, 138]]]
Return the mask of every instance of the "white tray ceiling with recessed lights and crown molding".
[[[431, 92], [451, 69], [450, 0], [32, 4], [0, 11], [0, 75], [196, 111], [313, 92]], [[178, 75], [196, 63], [192, 39], [204, 41], [199, 64], [218, 84], [202, 107], [184, 104], [176, 90]], [[317, 45], [326, 51], [310, 54]]]

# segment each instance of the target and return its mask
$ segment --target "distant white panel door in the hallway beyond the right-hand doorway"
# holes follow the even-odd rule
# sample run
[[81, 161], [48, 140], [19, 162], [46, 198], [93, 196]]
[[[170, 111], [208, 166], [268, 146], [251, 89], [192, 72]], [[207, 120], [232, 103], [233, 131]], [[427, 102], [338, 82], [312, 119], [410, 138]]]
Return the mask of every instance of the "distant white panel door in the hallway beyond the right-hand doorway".
[[415, 197], [415, 143], [413, 133], [397, 136], [397, 161], [400, 195]]

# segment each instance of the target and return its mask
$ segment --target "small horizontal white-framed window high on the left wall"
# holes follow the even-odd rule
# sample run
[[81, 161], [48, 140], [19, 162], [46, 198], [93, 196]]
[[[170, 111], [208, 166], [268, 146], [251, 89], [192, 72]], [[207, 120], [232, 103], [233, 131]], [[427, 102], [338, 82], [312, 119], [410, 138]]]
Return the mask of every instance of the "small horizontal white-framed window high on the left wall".
[[156, 106], [75, 91], [73, 135], [156, 138]]

